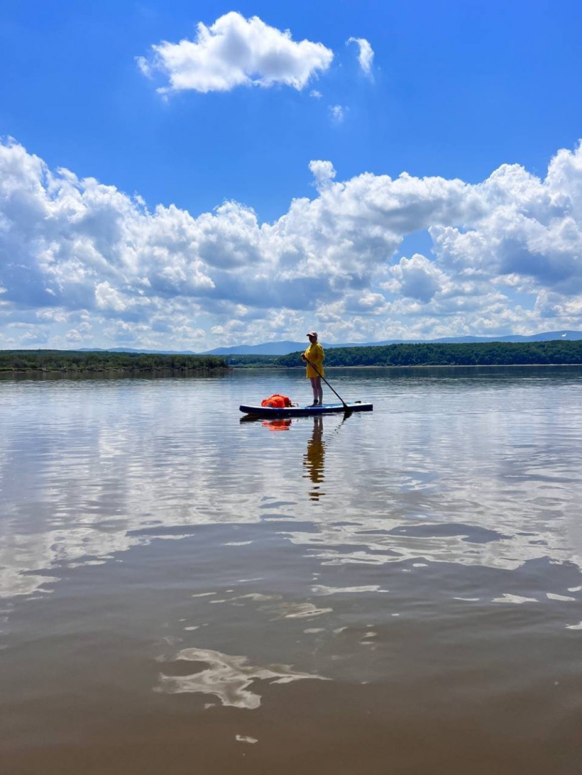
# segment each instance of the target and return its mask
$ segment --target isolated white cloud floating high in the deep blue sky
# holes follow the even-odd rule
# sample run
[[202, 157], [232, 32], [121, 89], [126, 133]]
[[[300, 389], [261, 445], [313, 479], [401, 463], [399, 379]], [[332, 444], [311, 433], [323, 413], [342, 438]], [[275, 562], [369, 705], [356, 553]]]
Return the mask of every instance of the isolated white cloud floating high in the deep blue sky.
[[236, 86], [285, 84], [303, 89], [317, 72], [326, 71], [334, 58], [323, 43], [296, 43], [289, 30], [268, 26], [258, 16], [244, 19], [230, 12], [210, 27], [198, 25], [196, 40], [163, 41], [153, 46], [150, 59], [137, 58], [150, 76], [161, 71], [168, 91], [230, 91]]

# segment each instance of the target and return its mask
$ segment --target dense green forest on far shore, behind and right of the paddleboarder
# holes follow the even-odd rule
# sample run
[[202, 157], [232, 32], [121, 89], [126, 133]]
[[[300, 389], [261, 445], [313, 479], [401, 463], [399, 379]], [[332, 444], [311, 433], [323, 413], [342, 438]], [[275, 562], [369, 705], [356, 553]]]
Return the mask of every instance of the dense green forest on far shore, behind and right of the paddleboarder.
[[[301, 366], [301, 353], [274, 360], [275, 366]], [[333, 347], [325, 366], [514, 366], [582, 363], [582, 340], [563, 342], [477, 342]]]

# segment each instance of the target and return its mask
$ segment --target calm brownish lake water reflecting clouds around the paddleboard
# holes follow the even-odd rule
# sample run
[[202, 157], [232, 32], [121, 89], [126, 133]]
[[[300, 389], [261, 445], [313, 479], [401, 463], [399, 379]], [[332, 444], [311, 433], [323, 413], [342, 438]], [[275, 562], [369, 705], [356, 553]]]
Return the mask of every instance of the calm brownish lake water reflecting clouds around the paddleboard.
[[580, 772], [582, 370], [0, 381], [2, 772]]

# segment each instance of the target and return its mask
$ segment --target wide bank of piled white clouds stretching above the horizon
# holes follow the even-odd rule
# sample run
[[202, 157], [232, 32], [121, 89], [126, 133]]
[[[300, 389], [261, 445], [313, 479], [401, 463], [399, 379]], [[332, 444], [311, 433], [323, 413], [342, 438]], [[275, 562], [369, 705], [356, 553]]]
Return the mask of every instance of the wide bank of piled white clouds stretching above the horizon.
[[[310, 163], [317, 195], [275, 222], [194, 216], [0, 144], [0, 347], [329, 342], [530, 333], [582, 322], [582, 146], [543, 179], [469, 184]], [[421, 230], [431, 255], [400, 254]], [[427, 251], [428, 252], [428, 251]], [[307, 328], [306, 328], [307, 326]]]

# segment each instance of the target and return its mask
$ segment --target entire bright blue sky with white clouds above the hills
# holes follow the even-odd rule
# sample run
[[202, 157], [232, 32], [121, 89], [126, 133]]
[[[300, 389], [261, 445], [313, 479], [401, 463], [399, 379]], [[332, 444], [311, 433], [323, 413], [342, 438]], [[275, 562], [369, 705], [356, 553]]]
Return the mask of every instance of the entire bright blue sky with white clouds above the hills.
[[581, 21], [574, 2], [5, 2], [0, 347], [580, 327]]

